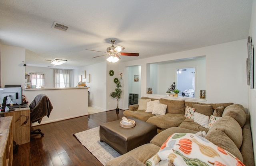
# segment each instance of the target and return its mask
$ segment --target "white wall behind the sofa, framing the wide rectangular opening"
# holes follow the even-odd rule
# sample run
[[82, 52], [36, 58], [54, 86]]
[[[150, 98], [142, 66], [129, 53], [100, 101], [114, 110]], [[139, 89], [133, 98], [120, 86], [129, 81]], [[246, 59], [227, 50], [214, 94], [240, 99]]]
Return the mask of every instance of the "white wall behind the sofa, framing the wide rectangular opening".
[[[246, 39], [174, 54], [123, 62], [120, 64], [120, 71], [124, 71], [124, 68], [128, 66], [141, 65], [141, 96], [150, 96], [149, 94], [146, 94], [147, 64], [191, 58], [195, 56], [206, 56], [206, 102], [234, 102], [242, 104], [245, 108], [248, 108], [248, 87], [246, 83]], [[124, 84], [128, 84], [129, 82], [126, 77], [124, 77], [123, 81]], [[124, 91], [128, 92], [128, 89], [124, 89]], [[164, 96], [161, 97], [164, 98]], [[128, 95], [124, 96], [122, 103], [123, 106], [128, 106]], [[123, 109], [126, 109], [126, 107]]]

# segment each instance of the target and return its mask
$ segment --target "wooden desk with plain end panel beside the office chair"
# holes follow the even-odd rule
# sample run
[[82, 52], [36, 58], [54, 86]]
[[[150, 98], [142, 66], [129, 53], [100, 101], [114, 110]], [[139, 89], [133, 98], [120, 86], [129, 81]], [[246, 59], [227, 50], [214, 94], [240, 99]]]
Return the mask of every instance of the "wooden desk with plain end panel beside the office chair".
[[5, 112], [4, 116], [12, 116], [13, 140], [16, 144], [30, 142], [30, 108], [15, 108], [15, 111]]

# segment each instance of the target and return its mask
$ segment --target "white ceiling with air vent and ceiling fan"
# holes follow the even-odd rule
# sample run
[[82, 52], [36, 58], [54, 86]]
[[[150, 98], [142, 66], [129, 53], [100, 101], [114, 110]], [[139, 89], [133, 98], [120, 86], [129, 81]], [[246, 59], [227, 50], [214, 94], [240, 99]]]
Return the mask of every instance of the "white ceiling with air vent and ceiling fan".
[[[0, 44], [26, 48], [28, 66], [59, 68], [103, 62], [124, 46], [120, 62], [247, 38], [252, 0], [0, 0]], [[54, 22], [69, 26], [66, 32]]]

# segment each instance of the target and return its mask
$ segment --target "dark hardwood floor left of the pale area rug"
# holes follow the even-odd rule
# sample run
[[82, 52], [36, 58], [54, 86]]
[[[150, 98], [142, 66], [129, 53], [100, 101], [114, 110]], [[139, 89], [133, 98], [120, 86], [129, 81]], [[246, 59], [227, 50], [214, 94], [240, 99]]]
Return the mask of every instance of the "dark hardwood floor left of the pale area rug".
[[19, 145], [13, 166], [102, 166], [102, 164], [73, 136], [121, 119], [123, 110], [100, 112], [60, 122], [32, 127], [44, 133], [31, 136], [30, 143]]

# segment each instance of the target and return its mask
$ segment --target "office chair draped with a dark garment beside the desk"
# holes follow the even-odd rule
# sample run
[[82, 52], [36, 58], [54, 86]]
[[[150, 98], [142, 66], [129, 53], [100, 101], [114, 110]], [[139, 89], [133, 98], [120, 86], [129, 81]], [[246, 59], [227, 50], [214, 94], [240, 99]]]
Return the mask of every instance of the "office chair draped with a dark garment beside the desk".
[[[46, 94], [38, 94], [29, 105], [29, 108], [30, 126], [32, 126], [34, 122], [41, 123], [44, 116], [49, 118], [53, 106]], [[31, 131], [30, 134], [41, 134], [41, 136], [44, 136], [44, 133], [39, 128]]]

